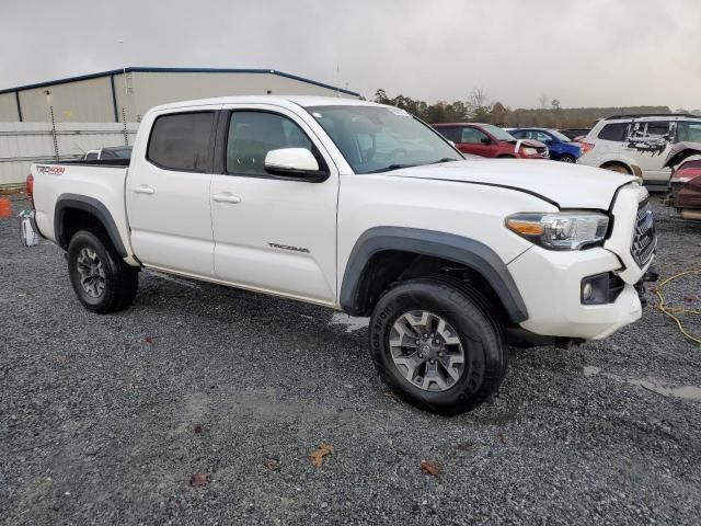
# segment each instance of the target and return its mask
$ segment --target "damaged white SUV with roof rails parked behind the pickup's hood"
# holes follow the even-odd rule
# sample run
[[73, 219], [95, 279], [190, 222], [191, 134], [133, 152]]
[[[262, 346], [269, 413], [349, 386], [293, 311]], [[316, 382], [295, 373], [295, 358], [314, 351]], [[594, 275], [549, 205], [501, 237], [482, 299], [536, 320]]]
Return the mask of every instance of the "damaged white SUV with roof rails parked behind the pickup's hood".
[[675, 142], [701, 141], [701, 117], [687, 114], [617, 115], [599, 121], [582, 145], [581, 164], [666, 185], [665, 160]]

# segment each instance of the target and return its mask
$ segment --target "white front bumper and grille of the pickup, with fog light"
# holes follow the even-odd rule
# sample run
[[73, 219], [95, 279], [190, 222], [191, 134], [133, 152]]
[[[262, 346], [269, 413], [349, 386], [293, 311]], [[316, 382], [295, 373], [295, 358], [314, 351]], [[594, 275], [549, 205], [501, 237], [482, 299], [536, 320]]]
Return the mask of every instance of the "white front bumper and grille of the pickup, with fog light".
[[[619, 188], [611, 215], [613, 230], [604, 247], [562, 252], [532, 247], [508, 264], [528, 309], [522, 329], [600, 340], [641, 318], [643, 281], [656, 274], [648, 272], [657, 238], [647, 192], [636, 184]], [[601, 276], [611, 288], [599, 305], [587, 305], [583, 281]]]

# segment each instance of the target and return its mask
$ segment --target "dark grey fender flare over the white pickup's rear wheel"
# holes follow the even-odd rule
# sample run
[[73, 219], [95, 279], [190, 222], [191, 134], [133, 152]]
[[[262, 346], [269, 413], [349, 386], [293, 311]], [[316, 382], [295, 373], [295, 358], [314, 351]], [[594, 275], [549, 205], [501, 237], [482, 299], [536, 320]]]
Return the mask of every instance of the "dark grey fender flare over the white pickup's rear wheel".
[[[79, 219], [78, 219], [79, 218]], [[117, 225], [110, 214], [107, 207], [95, 199], [79, 194], [61, 194], [56, 199], [56, 209], [54, 211], [54, 232], [58, 245], [67, 250], [70, 242], [70, 236], [76, 232], [74, 221], [80, 221], [80, 226], [96, 226], [102, 228], [110, 238], [112, 245], [122, 258], [128, 255]]]

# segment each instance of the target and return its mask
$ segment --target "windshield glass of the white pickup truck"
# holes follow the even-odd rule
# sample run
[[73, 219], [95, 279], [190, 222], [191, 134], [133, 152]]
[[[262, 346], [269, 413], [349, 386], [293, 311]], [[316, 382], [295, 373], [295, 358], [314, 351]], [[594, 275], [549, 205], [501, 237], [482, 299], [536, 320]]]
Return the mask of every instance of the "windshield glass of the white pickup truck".
[[313, 106], [307, 111], [333, 139], [355, 173], [383, 172], [462, 156], [404, 110]]

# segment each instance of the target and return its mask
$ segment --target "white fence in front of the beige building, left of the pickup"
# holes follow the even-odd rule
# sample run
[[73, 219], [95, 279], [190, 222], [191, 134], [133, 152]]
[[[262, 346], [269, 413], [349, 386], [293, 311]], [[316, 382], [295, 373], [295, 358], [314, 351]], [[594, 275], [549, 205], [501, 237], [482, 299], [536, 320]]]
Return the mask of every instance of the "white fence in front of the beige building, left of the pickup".
[[105, 146], [133, 145], [138, 124], [0, 123], [0, 185], [23, 183], [35, 161], [76, 159]]

